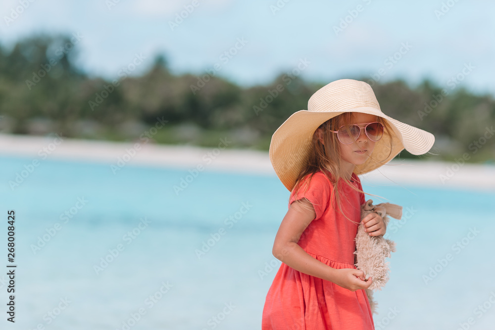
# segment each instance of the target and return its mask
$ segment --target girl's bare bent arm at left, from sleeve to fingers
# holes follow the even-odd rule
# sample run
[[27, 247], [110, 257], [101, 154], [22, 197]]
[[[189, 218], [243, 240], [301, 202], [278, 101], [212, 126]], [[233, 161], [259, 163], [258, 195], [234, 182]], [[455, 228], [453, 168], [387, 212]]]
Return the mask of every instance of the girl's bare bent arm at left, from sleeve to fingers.
[[275, 236], [273, 255], [299, 272], [336, 283], [351, 291], [369, 287], [372, 279], [364, 281], [363, 271], [332, 268], [307, 254], [297, 244], [302, 232], [315, 217], [313, 205], [307, 199], [294, 201]]

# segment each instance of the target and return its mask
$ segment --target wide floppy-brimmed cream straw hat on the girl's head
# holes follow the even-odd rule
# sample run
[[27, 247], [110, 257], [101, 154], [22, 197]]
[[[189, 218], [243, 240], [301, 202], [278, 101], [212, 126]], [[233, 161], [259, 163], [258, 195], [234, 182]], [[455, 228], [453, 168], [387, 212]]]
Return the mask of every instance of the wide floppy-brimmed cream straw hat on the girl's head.
[[[270, 142], [270, 161], [284, 186], [291, 191], [296, 179], [307, 164], [312, 137], [325, 121], [344, 112], [362, 112], [384, 118], [392, 127], [392, 134], [384, 131], [376, 142], [371, 157], [356, 165], [356, 175], [368, 173], [392, 160], [404, 148], [413, 155], [422, 155], [433, 146], [433, 134], [412, 127], [384, 114], [371, 86], [365, 82], [341, 79], [314, 93], [308, 110], [292, 114], [273, 134]], [[390, 141], [393, 148], [391, 150]], [[390, 153], [390, 155], [389, 155]]]

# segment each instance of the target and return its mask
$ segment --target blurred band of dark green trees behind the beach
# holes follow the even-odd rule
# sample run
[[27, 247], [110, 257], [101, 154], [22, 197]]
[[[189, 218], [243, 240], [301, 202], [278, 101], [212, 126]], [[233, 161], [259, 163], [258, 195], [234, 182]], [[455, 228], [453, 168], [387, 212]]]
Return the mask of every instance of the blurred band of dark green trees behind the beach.
[[[325, 85], [281, 74], [268, 86], [242, 88], [207, 73], [173, 75], [161, 55], [142, 76], [116, 75], [112, 83], [78, 69], [77, 49], [73, 36], [45, 35], [0, 48], [2, 133], [137, 141], [146, 132], [158, 143], [216, 146], [227, 138], [229, 147], [268, 150], [273, 132]], [[495, 159], [493, 95], [460, 87], [442, 94], [430, 81], [413, 88], [397, 80], [373, 90], [387, 115], [435, 135], [435, 159], [464, 152], [470, 161]], [[167, 124], [150, 130], [158, 118]]]

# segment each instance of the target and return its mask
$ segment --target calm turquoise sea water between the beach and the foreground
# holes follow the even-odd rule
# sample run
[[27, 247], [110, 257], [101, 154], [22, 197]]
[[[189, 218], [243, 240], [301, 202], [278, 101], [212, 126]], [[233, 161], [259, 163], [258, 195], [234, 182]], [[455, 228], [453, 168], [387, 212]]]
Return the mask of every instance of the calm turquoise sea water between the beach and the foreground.
[[[114, 175], [47, 159], [12, 190], [31, 162], [0, 158], [2, 246], [16, 212], [9, 329], [260, 329], [289, 195], [278, 178], [204, 171], [191, 181], [187, 170], [131, 164]], [[181, 178], [191, 182], [176, 194]], [[363, 188], [407, 214], [389, 225], [397, 252], [375, 293], [376, 329], [493, 329], [495, 193]]]

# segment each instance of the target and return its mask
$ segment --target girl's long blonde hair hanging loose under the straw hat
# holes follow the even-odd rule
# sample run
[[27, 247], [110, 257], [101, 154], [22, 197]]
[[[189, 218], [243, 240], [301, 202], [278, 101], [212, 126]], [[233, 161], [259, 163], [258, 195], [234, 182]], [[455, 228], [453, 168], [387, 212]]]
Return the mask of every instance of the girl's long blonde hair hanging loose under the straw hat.
[[[301, 170], [299, 175], [297, 176], [296, 179], [296, 184], [294, 188], [291, 190], [291, 196], [294, 191], [295, 197], [297, 200], [297, 191], [299, 190], [299, 186], [302, 184], [302, 179], [305, 178], [307, 175], [309, 175], [309, 180], [306, 181], [306, 189], [304, 191], [307, 191], [309, 187], [309, 183], [311, 182], [311, 178], [313, 175], [321, 171], [323, 174], [328, 178], [328, 180], [332, 183], [332, 193], [331, 193], [331, 198], [336, 199], [338, 208], [340, 212], [347, 218], [347, 220], [352, 221], [347, 217], [347, 215], [342, 211], [342, 206], [340, 203], [340, 193], [339, 193], [339, 183], [340, 181], [344, 181], [345, 184], [347, 184], [349, 187], [352, 189], [365, 193], [363, 190], [360, 190], [356, 187], [354, 187], [350, 181], [343, 177], [343, 173], [341, 171], [341, 150], [340, 150], [340, 142], [337, 138], [337, 134], [334, 134], [331, 131], [337, 131], [341, 126], [347, 125], [352, 122], [354, 119], [354, 113], [355, 112], [345, 112], [343, 114], [340, 114], [338, 116], [335, 116], [323, 124], [321, 124], [318, 129], [321, 130], [322, 132], [322, 138], [323, 138], [323, 144], [320, 142], [320, 139], [318, 138], [316, 131], [313, 134], [313, 139], [311, 143], [311, 150], [309, 152], [306, 164], [307, 166]], [[381, 117], [377, 116], [377, 121], [382, 123], [384, 126], [384, 136], [385, 134], [388, 134], [389, 136], [392, 136], [392, 127], [390, 124], [384, 120]], [[348, 131], [348, 128], [347, 128]], [[350, 134], [350, 132], [349, 132]], [[390, 156], [390, 153], [393, 150], [393, 145], [392, 141], [393, 139], [387, 139], [387, 141], [390, 141], [390, 148], [391, 150], [389, 152], [389, 155], [386, 156], [383, 159], [387, 159]], [[381, 139], [380, 141], [377, 141], [376, 143], [386, 143], [386, 139]], [[370, 155], [371, 157], [371, 155]], [[377, 160], [379, 161], [379, 160]], [[332, 176], [329, 177], [328, 173], [330, 173]], [[354, 222], [354, 221], [352, 221]]]

